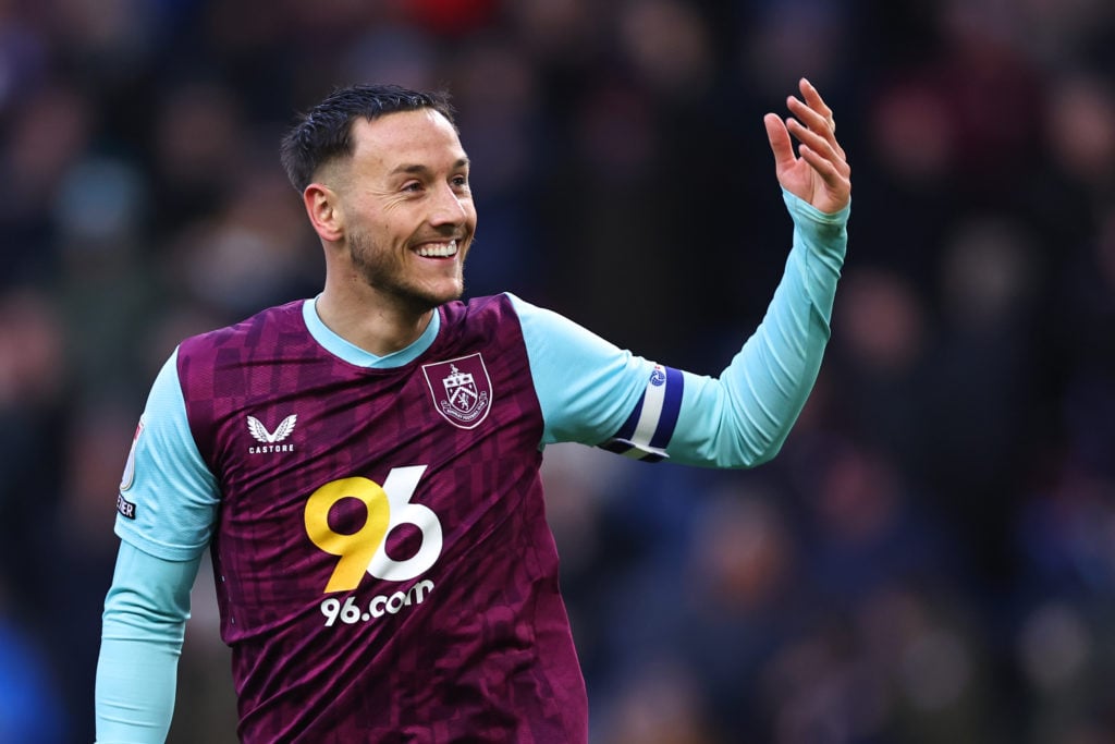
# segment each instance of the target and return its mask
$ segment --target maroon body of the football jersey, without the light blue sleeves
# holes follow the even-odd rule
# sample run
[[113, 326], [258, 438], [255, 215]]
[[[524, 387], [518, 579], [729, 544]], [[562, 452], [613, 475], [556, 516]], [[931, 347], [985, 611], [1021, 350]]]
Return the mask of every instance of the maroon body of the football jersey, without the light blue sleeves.
[[244, 742], [588, 738], [518, 319], [439, 312], [390, 369], [328, 352], [301, 302], [181, 346]]

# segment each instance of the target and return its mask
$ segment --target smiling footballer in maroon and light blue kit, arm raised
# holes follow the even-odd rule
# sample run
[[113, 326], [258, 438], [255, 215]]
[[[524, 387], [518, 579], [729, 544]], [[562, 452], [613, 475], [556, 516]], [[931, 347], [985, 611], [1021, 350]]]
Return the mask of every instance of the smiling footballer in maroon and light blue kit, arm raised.
[[511, 294], [458, 301], [476, 212], [443, 96], [359, 86], [310, 110], [282, 156], [324, 289], [183, 341], [155, 380], [117, 500], [98, 741], [164, 741], [209, 547], [242, 741], [584, 742], [542, 451], [747, 467], [780, 447], [851, 193], [830, 108], [801, 94], [765, 118], [793, 249], [719, 379]]

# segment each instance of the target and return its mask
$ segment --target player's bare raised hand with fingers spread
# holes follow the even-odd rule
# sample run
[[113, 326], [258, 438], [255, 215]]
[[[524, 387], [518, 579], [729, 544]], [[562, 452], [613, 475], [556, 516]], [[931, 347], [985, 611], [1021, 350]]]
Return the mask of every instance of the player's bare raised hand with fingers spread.
[[[836, 142], [836, 120], [821, 94], [805, 78], [798, 83], [802, 98], [789, 96], [786, 106], [793, 116], [763, 117], [775, 174], [783, 189], [822, 212], [838, 212], [852, 197], [852, 168], [844, 148]], [[798, 142], [797, 153], [791, 135]]]

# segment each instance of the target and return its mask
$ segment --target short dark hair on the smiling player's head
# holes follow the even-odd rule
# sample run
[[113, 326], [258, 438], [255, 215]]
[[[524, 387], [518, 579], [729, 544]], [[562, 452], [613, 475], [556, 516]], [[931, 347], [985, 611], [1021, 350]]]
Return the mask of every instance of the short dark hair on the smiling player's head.
[[453, 124], [449, 94], [420, 93], [397, 85], [352, 85], [336, 88], [320, 104], [298, 117], [282, 138], [280, 157], [287, 177], [302, 193], [318, 168], [331, 160], [352, 154], [352, 122], [369, 122], [396, 112], [432, 108]]

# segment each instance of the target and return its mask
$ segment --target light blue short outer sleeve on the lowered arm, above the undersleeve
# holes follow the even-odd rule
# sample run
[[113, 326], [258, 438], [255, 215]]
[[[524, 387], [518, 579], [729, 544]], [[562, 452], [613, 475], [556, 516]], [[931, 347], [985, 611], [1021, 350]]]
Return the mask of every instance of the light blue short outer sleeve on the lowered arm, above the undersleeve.
[[140, 550], [186, 561], [209, 545], [220, 503], [178, 384], [177, 349], [152, 385], [117, 500], [116, 534]]

